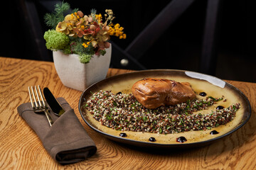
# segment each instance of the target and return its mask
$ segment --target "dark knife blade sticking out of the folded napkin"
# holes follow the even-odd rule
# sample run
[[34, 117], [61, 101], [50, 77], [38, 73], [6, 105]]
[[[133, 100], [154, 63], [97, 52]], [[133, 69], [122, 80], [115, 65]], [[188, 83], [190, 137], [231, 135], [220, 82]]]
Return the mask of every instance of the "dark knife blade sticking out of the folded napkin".
[[53, 113], [55, 113], [55, 115], [60, 116], [65, 112], [64, 108], [60, 105], [60, 103], [58, 103], [57, 99], [53, 96], [48, 87], [43, 89], [43, 96], [45, 96], [48, 106], [50, 106], [50, 109], [53, 111]]

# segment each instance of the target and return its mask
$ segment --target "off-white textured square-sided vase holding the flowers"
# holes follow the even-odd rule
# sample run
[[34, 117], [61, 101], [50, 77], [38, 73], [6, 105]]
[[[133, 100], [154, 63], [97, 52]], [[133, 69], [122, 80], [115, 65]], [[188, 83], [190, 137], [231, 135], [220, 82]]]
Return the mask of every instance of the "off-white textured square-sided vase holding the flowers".
[[110, 67], [111, 46], [106, 49], [105, 55], [93, 55], [90, 62], [82, 64], [78, 55], [65, 55], [61, 50], [53, 52], [55, 69], [64, 86], [78, 91], [105, 79]]

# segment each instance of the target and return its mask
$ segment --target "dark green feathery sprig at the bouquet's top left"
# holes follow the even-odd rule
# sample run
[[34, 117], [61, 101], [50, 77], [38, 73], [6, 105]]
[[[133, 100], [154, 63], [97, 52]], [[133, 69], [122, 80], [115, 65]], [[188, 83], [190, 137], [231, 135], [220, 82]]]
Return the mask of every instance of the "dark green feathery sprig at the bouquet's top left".
[[55, 4], [55, 12], [46, 13], [44, 16], [46, 25], [54, 29], [59, 22], [64, 20], [64, 13], [68, 12], [69, 10], [70, 4], [66, 2]]

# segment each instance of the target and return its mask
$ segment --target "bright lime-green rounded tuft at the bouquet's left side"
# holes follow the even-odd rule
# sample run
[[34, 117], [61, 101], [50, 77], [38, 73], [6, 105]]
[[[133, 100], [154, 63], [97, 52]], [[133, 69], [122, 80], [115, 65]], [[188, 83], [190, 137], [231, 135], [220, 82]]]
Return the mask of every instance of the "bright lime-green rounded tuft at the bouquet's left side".
[[56, 30], [46, 31], [43, 38], [46, 40], [46, 47], [48, 50], [63, 50], [70, 42], [67, 35], [59, 33]]

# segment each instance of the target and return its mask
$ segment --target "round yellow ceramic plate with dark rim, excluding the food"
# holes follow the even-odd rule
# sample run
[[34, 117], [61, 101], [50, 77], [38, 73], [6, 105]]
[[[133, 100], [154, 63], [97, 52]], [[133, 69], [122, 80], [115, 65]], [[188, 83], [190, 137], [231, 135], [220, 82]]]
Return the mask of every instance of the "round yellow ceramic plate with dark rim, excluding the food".
[[[92, 117], [92, 114], [88, 113], [88, 111], [82, 107], [85, 105], [85, 102], [88, 98], [90, 98], [92, 93], [103, 90], [112, 91], [114, 94], [118, 93], [119, 91], [128, 94], [131, 93], [132, 85], [136, 81], [147, 77], [189, 82], [193, 90], [196, 91], [197, 98], [203, 98], [198, 94], [201, 92], [206, 92], [207, 96], [213, 96], [215, 98], [224, 97], [226, 99], [219, 101], [213, 106], [210, 106], [205, 111], [199, 111], [200, 113], [211, 113], [211, 111], [215, 110], [217, 106], [224, 106], [227, 108], [234, 103], [240, 103], [240, 109], [237, 111], [235, 118], [230, 123], [227, 123], [226, 125], [219, 125], [211, 130], [195, 130], [167, 135], [149, 132], [124, 131], [127, 133], [127, 137], [120, 137], [119, 134], [121, 131], [113, 130], [112, 128], [107, 128], [106, 126], [101, 125]], [[87, 125], [89, 125], [90, 128], [96, 132], [99, 132], [101, 135], [105, 135], [105, 137], [111, 140], [123, 142], [129, 145], [136, 145], [139, 147], [195, 147], [206, 145], [210, 142], [214, 142], [215, 140], [230, 135], [232, 132], [235, 132], [235, 130], [238, 130], [242, 127], [242, 125], [247, 123], [251, 115], [250, 103], [247, 97], [242, 94], [239, 89], [235, 88], [235, 86], [206, 74], [170, 69], [146, 70], [119, 74], [117, 76], [99, 81], [87, 88], [82, 93], [79, 101], [79, 111], [83, 120], [85, 120], [85, 123], [87, 123]], [[219, 133], [217, 135], [210, 135], [212, 130], [216, 130]], [[187, 141], [183, 143], [176, 142], [177, 137], [181, 136], [186, 137]], [[150, 137], [154, 137], [156, 142], [149, 142]]]

